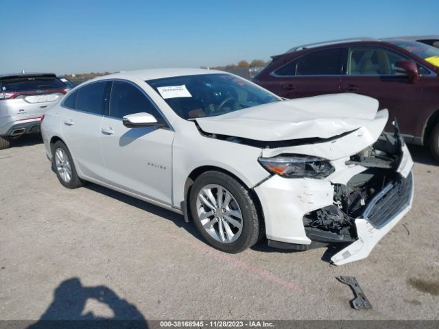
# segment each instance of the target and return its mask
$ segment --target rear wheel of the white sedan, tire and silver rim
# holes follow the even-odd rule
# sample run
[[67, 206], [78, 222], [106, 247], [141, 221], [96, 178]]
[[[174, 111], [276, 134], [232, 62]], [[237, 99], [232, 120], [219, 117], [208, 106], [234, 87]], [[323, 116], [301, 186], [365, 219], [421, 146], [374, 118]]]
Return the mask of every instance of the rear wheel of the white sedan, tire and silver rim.
[[69, 149], [62, 141], [56, 142], [52, 147], [52, 166], [62, 186], [73, 189], [84, 185], [76, 173]]

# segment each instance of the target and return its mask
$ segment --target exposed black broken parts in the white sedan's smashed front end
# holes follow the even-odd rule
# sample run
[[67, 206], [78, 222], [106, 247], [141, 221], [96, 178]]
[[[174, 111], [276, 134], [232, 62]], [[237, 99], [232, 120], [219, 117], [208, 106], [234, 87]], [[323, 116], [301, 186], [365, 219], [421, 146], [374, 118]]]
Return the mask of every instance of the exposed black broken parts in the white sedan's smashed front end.
[[370, 216], [374, 206], [381, 203], [380, 213], [372, 221], [374, 226], [379, 226], [386, 219], [385, 210], [394, 212], [405, 202], [404, 197], [410, 192], [406, 181], [412, 178], [405, 179], [395, 170], [401, 162], [402, 143], [399, 134], [383, 133], [374, 145], [351, 156], [347, 165], [367, 169], [353, 176], [346, 185], [333, 184], [333, 205], [303, 217], [305, 232], [313, 241], [309, 247], [355, 241], [355, 219]]

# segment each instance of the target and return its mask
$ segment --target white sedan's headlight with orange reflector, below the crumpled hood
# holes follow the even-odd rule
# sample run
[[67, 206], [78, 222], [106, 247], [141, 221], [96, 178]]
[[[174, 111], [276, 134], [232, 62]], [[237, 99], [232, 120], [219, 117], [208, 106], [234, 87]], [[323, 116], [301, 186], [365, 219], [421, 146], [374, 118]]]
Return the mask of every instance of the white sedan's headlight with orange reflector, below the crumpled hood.
[[259, 163], [270, 173], [276, 173], [285, 178], [324, 178], [334, 172], [329, 160], [301, 155], [275, 156], [274, 158], [259, 158]]

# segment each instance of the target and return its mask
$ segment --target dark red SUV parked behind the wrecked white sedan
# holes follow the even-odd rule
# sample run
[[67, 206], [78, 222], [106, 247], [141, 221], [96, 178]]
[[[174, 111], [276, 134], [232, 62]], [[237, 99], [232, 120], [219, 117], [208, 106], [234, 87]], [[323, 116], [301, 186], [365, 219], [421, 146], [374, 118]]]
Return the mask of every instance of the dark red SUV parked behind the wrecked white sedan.
[[[439, 160], [439, 49], [410, 40], [338, 40], [273, 56], [253, 82], [285, 98], [359, 93], [398, 119], [407, 143]], [[392, 130], [390, 122], [386, 130]]]

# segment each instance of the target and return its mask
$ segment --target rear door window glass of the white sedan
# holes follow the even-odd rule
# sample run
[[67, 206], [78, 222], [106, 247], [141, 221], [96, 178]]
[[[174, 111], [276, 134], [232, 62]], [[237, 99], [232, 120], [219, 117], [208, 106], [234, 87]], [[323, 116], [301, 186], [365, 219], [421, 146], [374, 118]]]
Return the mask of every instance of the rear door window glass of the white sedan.
[[78, 90], [75, 109], [93, 114], [104, 114], [105, 91], [108, 82], [94, 82]]

